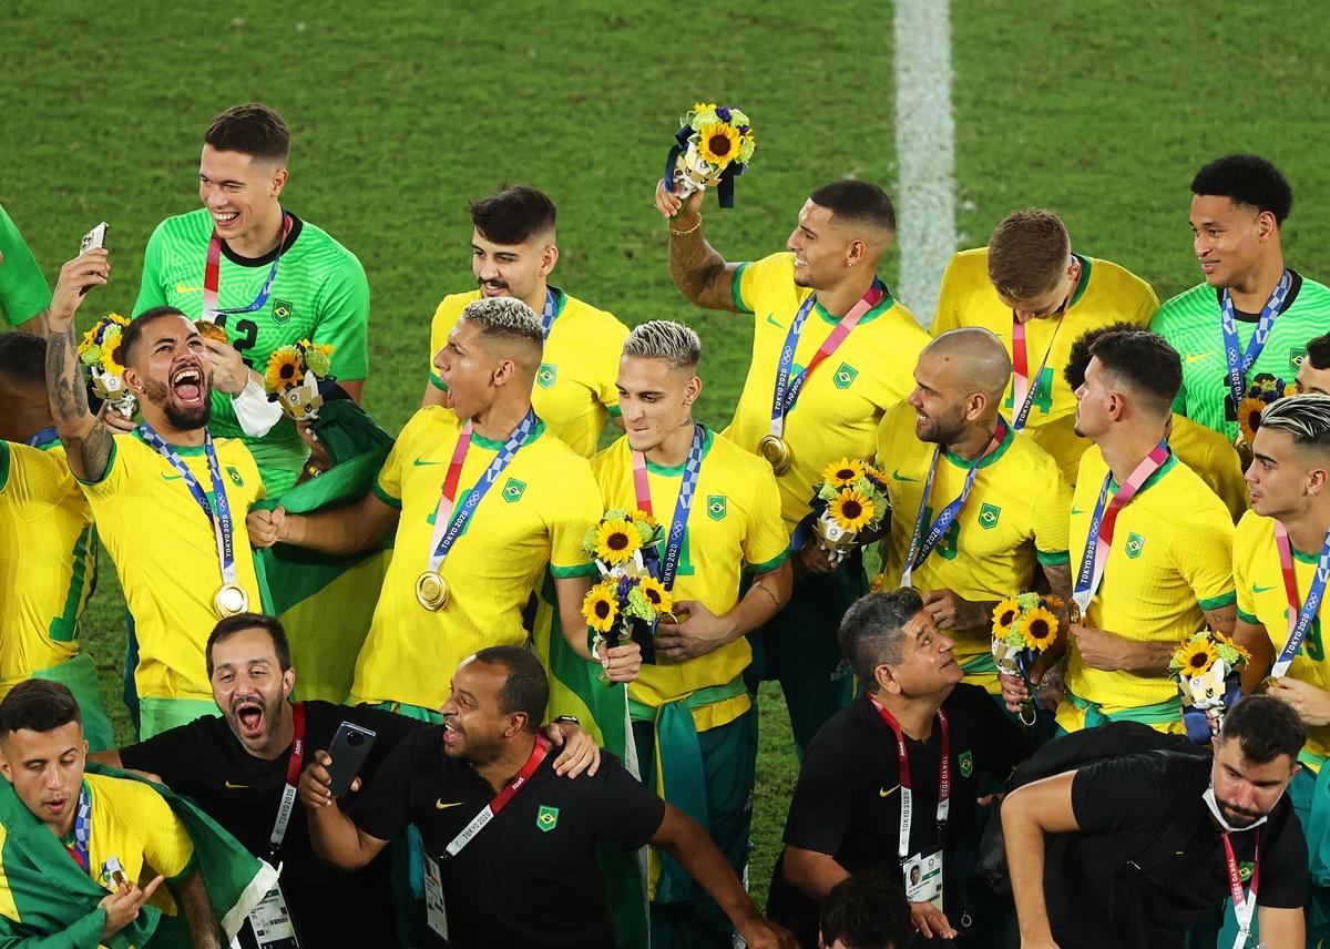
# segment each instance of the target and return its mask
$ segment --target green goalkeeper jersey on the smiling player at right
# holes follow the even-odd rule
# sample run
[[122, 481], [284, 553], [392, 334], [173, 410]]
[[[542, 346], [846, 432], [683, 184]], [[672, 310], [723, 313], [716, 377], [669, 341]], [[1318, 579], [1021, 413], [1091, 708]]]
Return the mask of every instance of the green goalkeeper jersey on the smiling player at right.
[[[1265, 349], [1246, 371], [1248, 386], [1260, 374], [1293, 385], [1307, 355], [1307, 341], [1330, 330], [1330, 287], [1291, 270], [1289, 276], [1289, 295], [1270, 327]], [[1238, 422], [1237, 406], [1229, 394], [1220, 293], [1208, 284], [1180, 293], [1158, 309], [1150, 329], [1182, 357], [1182, 391], [1173, 410], [1232, 439], [1238, 434]], [[1238, 345], [1245, 351], [1261, 314], [1238, 310], [1233, 315]]]

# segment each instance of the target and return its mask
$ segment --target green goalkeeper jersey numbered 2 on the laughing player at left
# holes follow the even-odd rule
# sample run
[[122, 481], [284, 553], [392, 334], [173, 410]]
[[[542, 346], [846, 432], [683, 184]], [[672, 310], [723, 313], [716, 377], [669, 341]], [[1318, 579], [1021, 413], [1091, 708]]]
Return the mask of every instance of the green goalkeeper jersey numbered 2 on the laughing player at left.
[[[273, 350], [310, 339], [332, 346], [332, 374], [358, 381], [368, 373], [370, 285], [355, 254], [327, 232], [287, 212], [291, 232], [281, 248], [277, 276], [262, 306], [250, 313], [225, 313], [231, 345], [245, 363], [265, 374]], [[152, 306], [174, 306], [190, 318], [203, 313], [203, 268], [213, 220], [206, 209], [169, 217], [157, 225], [144, 256], [144, 280], [134, 315]], [[217, 307], [243, 309], [258, 299], [278, 252], [241, 257], [222, 244]], [[239, 438], [258, 462], [270, 496], [295, 483], [309, 455], [295, 425], [282, 418], [263, 438], [241, 431], [231, 399], [213, 393], [211, 431]]]

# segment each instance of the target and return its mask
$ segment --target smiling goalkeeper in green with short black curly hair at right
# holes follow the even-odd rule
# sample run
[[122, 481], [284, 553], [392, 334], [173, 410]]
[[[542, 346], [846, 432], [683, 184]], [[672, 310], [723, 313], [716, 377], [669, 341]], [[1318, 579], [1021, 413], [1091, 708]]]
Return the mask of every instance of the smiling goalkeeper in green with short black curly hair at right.
[[1267, 373], [1293, 383], [1307, 339], [1330, 321], [1330, 289], [1291, 270], [1279, 229], [1293, 189], [1254, 154], [1229, 154], [1192, 178], [1193, 249], [1202, 284], [1160, 307], [1150, 329], [1182, 354], [1174, 409], [1238, 437], [1237, 409]]

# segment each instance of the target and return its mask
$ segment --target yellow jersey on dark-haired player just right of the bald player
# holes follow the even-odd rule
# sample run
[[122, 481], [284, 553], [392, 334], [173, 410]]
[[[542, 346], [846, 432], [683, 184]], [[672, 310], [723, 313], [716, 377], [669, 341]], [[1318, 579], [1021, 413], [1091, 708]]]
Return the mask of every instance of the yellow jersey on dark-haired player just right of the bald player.
[[[1089, 522], [1095, 515], [1108, 465], [1099, 447], [1081, 458], [1072, 494], [1072, 572], [1080, 570]], [[1117, 494], [1109, 484], [1109, 499]], [[1205, 627], [1204, 610], [1234, 603], [1233, 520], [1224, 503], [1189, 467], [1169, 455], [1121, 508], [1099, 592], [1084, 624], [1124, 639], [1181, 643]], [[1165, 672], [1104, 671], [1085, 664], [1068, 643], [1067, 688], [1103, 705], [1105, 715], [1166, 701], [1177, 683]], [[1057, 724], [1067, 731], [1083, 725], [1084, 715], [1064, 701]], [[1170, 727], [1181, 731], [1181, 720]]]

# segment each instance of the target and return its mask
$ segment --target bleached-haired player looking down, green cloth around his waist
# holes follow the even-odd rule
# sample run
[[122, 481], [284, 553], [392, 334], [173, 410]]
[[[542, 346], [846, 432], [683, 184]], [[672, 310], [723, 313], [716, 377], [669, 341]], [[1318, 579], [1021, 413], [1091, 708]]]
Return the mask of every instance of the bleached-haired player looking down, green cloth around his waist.
[[[656, 664], [628, 687], [642, 780], [701, 824], [742, 874], [757, 767], [745, 634], [785, 604], [793, 570], [771, 466], [693, 421], [701, 354], [680, 323], [652, 321], [628, 335], [617, 386], [628, 434], [592, 459], [592, 471], [606, 507], [645, 510], [666, 532], [660, 579], [680, 622], [660, 626]], [[751, 586], [741, 596], [745, 574]], [[732, 945], [721, 908], [678, 864], [653, 856], [652, 945]]]

